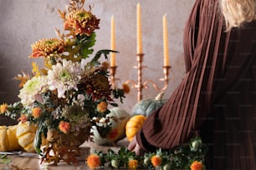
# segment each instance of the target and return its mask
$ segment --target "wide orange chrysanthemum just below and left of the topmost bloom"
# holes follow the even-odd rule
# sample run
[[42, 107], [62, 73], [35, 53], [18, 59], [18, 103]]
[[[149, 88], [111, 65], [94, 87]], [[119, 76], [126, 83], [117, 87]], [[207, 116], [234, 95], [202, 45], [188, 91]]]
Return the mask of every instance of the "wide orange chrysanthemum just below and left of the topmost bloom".
[[32, 44], [32, 54], [29, 57], [49, 57], [51, 54], [64, 52], [63, 40], [57, 38], [42, 39]]

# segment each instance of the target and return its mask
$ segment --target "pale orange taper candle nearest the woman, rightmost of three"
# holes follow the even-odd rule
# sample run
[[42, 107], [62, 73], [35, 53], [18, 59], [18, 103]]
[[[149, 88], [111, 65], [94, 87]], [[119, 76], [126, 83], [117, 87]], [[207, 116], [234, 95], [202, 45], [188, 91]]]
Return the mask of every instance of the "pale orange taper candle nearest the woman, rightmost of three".
[[162, 18], [162, 27], [163, 27], [164, 66], [170, 66], [170, 63], [169, 63], [168, 32], [167, 32], [166, 14]]

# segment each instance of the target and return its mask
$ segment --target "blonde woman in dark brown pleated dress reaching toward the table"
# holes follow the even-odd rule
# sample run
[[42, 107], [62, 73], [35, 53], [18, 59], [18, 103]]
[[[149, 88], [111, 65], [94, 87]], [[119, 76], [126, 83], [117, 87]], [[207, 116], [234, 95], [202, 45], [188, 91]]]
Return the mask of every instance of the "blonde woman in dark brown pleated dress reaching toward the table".
[[255, 0], [196, 0], [184, 33], [187, 75], [129, 144], [174, 148], [195, 133], [207, 168], [256, 169]]

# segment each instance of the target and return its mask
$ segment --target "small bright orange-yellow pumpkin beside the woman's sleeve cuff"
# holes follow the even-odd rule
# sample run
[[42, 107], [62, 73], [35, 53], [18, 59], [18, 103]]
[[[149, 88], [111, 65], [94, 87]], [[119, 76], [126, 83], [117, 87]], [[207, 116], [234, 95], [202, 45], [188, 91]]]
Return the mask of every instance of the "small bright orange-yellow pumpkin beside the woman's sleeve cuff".
[[126, 138], [131, 142], [132, 138], [135, 137], [136, 133], [141, 130], [146, 116], [144, 115], [135, 115], [130, 118], [125, 126]]

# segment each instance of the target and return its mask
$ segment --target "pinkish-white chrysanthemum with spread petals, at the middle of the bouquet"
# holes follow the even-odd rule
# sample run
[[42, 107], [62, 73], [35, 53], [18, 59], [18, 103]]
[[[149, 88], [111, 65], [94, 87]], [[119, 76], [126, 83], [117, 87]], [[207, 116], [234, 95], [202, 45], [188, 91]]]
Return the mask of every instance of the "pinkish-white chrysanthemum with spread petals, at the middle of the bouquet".
[[58, 97], [65, 97], [64, 93], [69, 90], [78, 90], [81, 68], [79, 63], [63, 60], [57, 63], [48, 72], [49, 89], [58, 91]]

